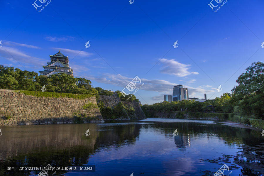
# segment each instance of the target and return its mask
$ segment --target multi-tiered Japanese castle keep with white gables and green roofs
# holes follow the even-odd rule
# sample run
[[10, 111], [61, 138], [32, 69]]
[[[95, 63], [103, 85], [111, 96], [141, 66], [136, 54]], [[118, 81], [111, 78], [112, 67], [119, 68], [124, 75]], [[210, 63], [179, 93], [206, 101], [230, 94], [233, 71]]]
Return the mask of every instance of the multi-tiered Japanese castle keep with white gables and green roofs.
[[50, 61], [47, 62], [48, 65], [43, 66], [43, 71], [39, 71], [41, 75], [50, 76], [56, 73], [65, 73], [73, 77], [73, 70], [69, 67], [68, 56], [60, 53], [60, 50], [55, 55], [50, 55]]

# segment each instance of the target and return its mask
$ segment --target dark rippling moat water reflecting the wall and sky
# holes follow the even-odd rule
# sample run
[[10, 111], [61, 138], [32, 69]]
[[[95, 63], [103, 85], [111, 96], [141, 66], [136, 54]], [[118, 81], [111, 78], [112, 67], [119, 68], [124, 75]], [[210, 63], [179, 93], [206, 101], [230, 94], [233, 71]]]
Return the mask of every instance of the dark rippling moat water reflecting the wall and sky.
[[[54, 175], [212, 176], [224, 164], [224, 175], [263, 175], [261, 131], [225, 126], [216, 121], [156, 119], [1, 126], [0, 175], [37, 175], [19, 166], [95, 165], [95, 172]], [[90, 129], [90, 135], [84, 133]], [[178, 135], [173, 131], [178, 129]], [[88, 133], [89, 134], [89, 133]], [[16, 167], [9, 171], [7, 167]], [[54, 172], [54, 170], [53, 170]], [[141, 174], [144, 173], [144, 174]], [[48, 172], [48, 176], [52, 172]]]

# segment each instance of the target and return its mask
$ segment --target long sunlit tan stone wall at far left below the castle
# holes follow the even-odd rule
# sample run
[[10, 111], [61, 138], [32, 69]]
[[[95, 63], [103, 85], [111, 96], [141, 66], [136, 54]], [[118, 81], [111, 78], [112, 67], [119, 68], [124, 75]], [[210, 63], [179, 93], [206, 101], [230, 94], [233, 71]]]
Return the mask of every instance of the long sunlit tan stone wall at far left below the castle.
[[[84, 123], [104, 122], [98, 107], [85, 110], [82, 108], [89, 102], [97, 105], [95, 97], [34, 97], [14, 90], [0, 89], [0, 125], [73, 123], [72, 114], [77, 111], [91, 117], [84, 118]], [[5, 120], [6, 116], [11, 118]]]

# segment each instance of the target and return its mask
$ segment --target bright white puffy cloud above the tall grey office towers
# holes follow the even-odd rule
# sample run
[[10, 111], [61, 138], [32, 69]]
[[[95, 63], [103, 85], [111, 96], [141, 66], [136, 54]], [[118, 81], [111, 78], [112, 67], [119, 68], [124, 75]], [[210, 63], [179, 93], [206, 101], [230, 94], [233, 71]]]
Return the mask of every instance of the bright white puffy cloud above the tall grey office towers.
[[168, 60], [168, 59], [161, 59], [160, 62], [163, 64], [163, 66], [160, 68], [160, 73], [169, 74], [169, 75], [175, 75], [177, 77], [183, 77], [187, 75], [197, 75], [198, 72], [189, 72], [189, 66], [182, 64], [174, 59]]

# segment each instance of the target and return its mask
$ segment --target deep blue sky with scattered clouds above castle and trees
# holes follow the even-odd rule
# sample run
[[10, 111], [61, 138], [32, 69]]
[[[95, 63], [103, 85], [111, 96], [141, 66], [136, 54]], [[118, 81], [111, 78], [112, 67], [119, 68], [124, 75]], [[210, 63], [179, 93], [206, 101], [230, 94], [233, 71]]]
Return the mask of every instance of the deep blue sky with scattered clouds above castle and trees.
[[213, 11], [210, 0], [52, 0], [40, 12], [44, 5], [37, 11], [33, 3], [0, 2], [1, 65], [38, 72], [60, 50], [74, 77], [90, 79], [94, 87], [122, 90], [138, 76], [141, 104], [163, 101], [177, 84], [188, 88], [189, 97], [231, 93], [252, 62], [264, 62], [261, 0], [228, 0], [216, 12], [220, 4]]

